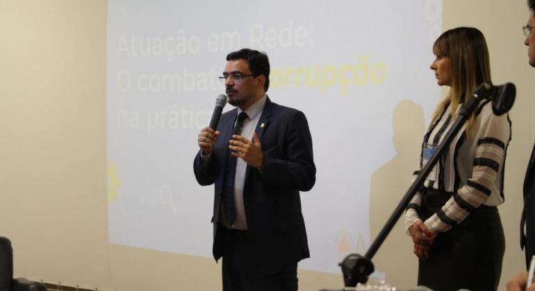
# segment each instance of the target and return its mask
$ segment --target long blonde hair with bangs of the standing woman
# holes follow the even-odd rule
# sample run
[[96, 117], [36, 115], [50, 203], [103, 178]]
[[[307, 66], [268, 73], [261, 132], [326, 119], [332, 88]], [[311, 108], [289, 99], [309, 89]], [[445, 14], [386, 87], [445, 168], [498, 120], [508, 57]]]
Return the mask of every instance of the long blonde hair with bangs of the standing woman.
[[[459, 27], [446, 30], [433, 44], [435, 55], [450, 58], [452, 87], [446, 98], [438, 104], [431, 118], [431, 125], [440, 118], [442, 112], [451, 104], [452, 115], [461, 103], [472, 97], [479, 84], [491, 82], [491, 62], [485, 37], [477, 28]], [[474, 131], [476, 114], [466, 121], [466, 132], [471, 136]]]

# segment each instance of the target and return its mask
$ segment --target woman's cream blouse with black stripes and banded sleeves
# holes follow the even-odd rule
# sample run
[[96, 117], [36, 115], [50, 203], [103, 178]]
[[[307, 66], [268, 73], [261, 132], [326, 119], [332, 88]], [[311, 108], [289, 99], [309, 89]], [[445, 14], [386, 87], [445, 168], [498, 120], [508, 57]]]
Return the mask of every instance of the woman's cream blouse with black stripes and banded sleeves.
[[[454, 116], [458, 116], [460, 109], [461, 105], [457, 107]], [[454, 124], [455, 118], [452, 118], [451, 110], [448, 106], [426, 132], [413, 181], [427, 161], [427, 155], [432, 154]], [[503, 165], [507, 145], [511, 140], [511, 121], [507, 114], [493, 114], [492, 104], [488, 100], [479, 103], [476, 114], [473, 136], [467, 135], [464, 125], [424, 182], [427, 188], [453, 194], [440, 211], [425, 220], [425, 226], [433, 233], [456, 226], [481, 204], [497, 206], [504, 202]], [[407, 206], [407, 230], [420, 220], [418, 212], [421, 202], [422, 193], [418, 192]]]

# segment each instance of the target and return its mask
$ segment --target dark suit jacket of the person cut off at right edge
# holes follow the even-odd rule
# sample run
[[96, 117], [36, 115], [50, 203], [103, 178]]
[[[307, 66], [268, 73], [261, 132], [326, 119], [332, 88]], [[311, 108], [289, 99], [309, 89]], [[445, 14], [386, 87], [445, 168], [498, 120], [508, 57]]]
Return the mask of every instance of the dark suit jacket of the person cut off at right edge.
[[[524, 178], [524, 209], [520, 219], [520, 247], [526, 248], [526, 266], [532, 261], [535, 254], [535, 165], [534, 165], [535, 145], [532, 155], [527, 165], [526, 176]], [[525, 234], [524, 234], [525, 225]]]

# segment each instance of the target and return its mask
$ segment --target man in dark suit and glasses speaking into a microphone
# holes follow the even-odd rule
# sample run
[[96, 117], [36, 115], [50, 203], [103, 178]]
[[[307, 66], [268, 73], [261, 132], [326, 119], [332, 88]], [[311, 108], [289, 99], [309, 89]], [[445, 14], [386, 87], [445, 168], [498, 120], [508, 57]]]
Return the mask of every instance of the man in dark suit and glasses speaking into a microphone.
[[265, 53], [229, 53], [220, 79], [237, 108], [197, 139], [195, 177], [215, 185], [223, 290], [297, 290], [297, 262], [310, 256], [299, 191], [315, 183], [311, 134], [302, 112], [268, 98], [269, 75]]

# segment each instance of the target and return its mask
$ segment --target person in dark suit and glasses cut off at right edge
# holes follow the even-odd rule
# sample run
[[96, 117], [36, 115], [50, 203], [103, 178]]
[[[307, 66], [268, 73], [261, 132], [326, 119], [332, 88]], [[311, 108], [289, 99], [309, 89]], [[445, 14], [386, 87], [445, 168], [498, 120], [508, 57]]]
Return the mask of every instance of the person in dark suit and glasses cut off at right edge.
[[[527, 0], [529, 7], [529, 18], [527, 24], [522, 27], [526, 39], [524, 44], [527, 48], [529, 65], [535, 67], [535, 0]], [[524, 178], [524, 209], [522, 209], [522, 218], [520, 218], [520, 248], [525, 250], [526, 267], [529, 269], [529, 263], [535, 254], [535, 145], [532, 155], [529, 157], [526, 175]], [[527, 286], [527, 272], [517, 274], [507, 283], [507, 290], [525, 290]], [[535, 285], [527, 290], [535, 291]]]

